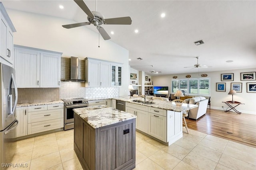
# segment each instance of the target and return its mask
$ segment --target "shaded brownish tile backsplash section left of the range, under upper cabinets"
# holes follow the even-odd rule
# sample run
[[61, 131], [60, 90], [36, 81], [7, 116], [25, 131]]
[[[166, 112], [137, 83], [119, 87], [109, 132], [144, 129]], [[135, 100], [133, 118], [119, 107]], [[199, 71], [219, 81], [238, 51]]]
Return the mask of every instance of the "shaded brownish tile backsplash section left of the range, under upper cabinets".
[[18, 104], [60, 99], [59, 88], [18, 88]]

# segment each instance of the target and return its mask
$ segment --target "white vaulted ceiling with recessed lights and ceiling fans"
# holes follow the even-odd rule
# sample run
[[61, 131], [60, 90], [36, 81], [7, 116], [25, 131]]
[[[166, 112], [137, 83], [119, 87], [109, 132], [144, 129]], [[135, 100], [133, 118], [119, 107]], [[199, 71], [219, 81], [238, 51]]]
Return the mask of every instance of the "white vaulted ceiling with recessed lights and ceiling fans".
[[[7, 9], [67, 18], [73, 23], [87, 21], [73, 0], [2, 2]], [[84, 2], [95, 10], [96, 1]], [[200, 72], [256, 68], [256, 1], [98, 0], [97, 11], [105, 18], [132, 18], [131, 25], [104, 25], [104, 29], [111, 37], [107, 41], [129, 50], [129, 64], [136, 70], [149, 72], [154, 65], [154, 70], [162, 71], [159, 75], [198, 72], [198, 68], [184, 68], [194, 66], [197, 56], [199, 64], [210, 66], [199, 68]], [[97, 32], [93, 25], [84, 27]], [[198, 40], [204, 44], [195, 45]]]

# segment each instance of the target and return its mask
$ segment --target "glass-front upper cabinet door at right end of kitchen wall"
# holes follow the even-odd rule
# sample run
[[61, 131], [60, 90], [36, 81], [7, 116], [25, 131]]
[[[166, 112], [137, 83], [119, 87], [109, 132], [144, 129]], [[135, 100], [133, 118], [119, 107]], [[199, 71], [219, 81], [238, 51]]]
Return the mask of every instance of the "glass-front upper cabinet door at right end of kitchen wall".
[[111, 86], [122, 86], [122, 65], [111, 64]]

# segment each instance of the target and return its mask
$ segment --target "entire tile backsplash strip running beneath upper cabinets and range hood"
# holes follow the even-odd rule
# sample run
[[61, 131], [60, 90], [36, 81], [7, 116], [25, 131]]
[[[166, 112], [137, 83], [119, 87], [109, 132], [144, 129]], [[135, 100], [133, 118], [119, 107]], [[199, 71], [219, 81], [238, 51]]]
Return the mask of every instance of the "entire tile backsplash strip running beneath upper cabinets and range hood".
[[119, 97], [118, 87], [86, 88], [82, 82], [61, 82], [60, 88], [18, 88], [18, 104], [49, 102], [69, 98], [89, 100]]

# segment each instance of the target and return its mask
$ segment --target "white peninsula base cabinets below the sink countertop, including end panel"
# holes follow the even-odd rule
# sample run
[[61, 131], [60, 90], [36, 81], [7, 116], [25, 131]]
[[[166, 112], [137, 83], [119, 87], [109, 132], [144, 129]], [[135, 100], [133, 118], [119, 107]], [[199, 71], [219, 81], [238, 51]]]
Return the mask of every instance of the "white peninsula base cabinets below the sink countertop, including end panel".
[[136, 129], [171, 145], [182, 137], [182, 113], [126, 102], [126, 112], [137, 115]]

